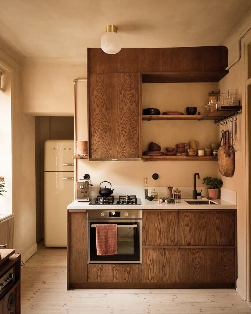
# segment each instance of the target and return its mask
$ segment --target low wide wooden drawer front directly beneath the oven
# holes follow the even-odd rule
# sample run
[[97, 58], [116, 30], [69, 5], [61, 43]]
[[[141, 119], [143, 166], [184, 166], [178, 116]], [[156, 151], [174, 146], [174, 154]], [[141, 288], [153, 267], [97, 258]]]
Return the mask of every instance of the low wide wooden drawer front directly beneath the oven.
[[88, 282], [97, 283], [142, 282], [142, 265], [88, 264]]

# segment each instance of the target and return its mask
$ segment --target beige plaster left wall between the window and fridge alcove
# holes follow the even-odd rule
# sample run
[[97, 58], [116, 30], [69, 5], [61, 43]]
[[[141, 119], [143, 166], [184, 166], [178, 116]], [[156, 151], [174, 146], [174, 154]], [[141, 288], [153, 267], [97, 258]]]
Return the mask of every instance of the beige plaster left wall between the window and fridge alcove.
[[36, 252], [35, 241], [35, 127], [34, 117], [22, 112], [22, 56], [1, 40], [0, 63], [11, 71], [12, 96], [12, 208], [14, 248], [26, 261]]

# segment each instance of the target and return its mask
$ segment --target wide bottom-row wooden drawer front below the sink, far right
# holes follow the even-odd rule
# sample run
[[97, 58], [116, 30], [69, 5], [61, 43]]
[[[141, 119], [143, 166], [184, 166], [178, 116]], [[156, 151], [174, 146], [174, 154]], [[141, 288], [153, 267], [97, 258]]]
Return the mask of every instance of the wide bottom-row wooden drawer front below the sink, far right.
[[185, 283], [234, 283], [234, 248], [184, 248], [179, 250], [179, 278]]

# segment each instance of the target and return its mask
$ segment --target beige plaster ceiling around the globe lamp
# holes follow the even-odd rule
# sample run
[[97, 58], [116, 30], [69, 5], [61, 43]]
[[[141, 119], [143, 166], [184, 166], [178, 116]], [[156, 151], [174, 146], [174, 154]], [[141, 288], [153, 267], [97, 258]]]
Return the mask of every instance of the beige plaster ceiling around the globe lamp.
[[0, 36], [26, 57], [83, 58], [115, 24], [123, 48], [221, 45], [250, 0], [0, 0]]

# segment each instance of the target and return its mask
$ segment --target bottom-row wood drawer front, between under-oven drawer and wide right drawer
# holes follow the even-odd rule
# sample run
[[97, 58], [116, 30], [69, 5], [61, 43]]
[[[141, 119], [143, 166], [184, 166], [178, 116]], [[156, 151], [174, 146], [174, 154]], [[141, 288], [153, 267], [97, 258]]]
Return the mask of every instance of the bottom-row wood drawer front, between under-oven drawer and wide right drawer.
[[179, 281], [179, 249], [143, 246], [142, 280], [151, 283]]

